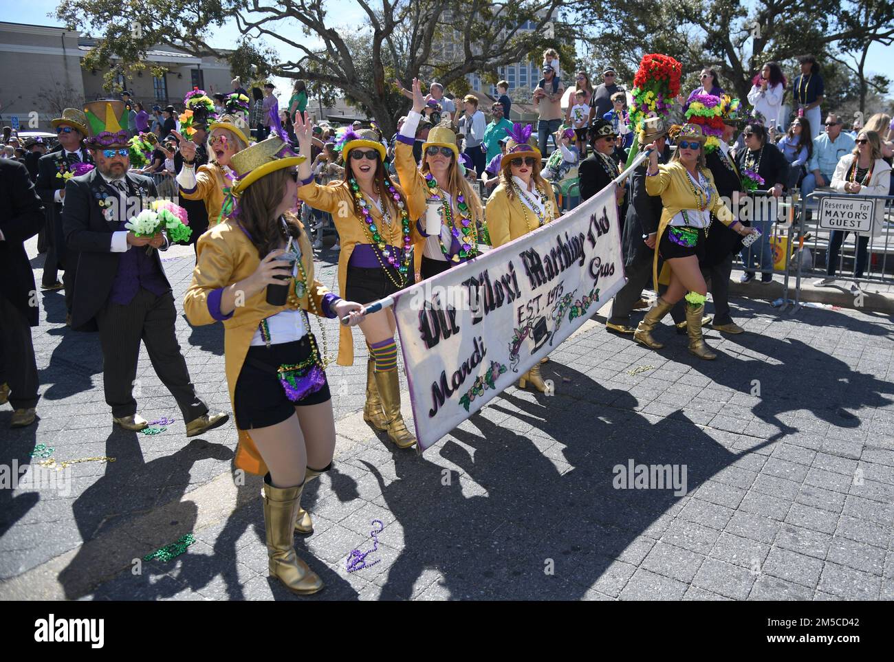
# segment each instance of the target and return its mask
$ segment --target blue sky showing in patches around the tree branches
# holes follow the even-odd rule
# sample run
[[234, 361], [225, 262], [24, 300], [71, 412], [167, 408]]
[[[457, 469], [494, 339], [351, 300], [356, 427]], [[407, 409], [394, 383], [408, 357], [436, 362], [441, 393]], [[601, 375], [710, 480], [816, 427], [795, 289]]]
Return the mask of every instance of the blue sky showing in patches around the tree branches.
[[[11, 2], [6, 1], [4, 1], [3, 4], [7, 9], [13, 6]], [[47, 16], [48, 13], [52, 13], [55, 10], [57, 4], [57, 0], [29, 0], [26, 3], [16, 3], [14, 5], [15, 11], [7, 12], [6, 18], [17, 23], [61, 25], [60, 21], [56, 21]], [[338, 17], [337, 21], [334, 22], [337, 22], [345, 28], [356, 28], [356, 26], [361, 24], [366, 18], [366, 13], [360, 9], [359, 5], [354, 2], [354, 0], [328, 0], [327, 7], [329, 8], [330, 16]], [[296, 32], [297, 31], [298, 26], [296, 25]], [[227, 25], [224, 26], [220, 31], [220, 34], [216, 35], [210, 43], [212, 46], [226, 47], [232, 45], [238, 37], [239, 32], [235, 25]], [[294, 49], [287, 49], [280, 43], [274, 44], [274, 46], [279, 50], [282, 56], [298, 56], [297, 51], [294, 51]], [[873, 73], [890, 72], [890, 61], [892, 56], [894, 56], [894, 47], [879, 46], [877, 44], [873, 45], [867, 57], [866, 67]], [[274, 82], [277, 83], [277, 88], [283, 91], [283, 93], [287, 93], [286, 90], [291, 88], [289, 80], [279, 79], [274, 80]], [[894, 85], [889, 89], [889, 94], [894, 95]]]

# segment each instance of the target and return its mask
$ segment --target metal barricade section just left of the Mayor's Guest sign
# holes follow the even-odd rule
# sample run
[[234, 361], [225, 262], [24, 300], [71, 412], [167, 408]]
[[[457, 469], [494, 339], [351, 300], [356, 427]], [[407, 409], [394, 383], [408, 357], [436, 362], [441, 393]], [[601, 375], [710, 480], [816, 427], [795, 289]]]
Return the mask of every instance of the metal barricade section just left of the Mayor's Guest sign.
[[[789, 304], [789, 277], [791, 272], [791, 247], [795, 241], [795, 230], [797, 223], [797, 189], [792, 191], [788, 196], [773, 197], [772, 191], [750, 191], [746, 196], [738, 197], [738, 204], [732, 204], [732, 211], [737, 214], [740, 221], [745, 221], [751, 227], [763, 226], [763, 218], [772, 219], [769, 226], [770, 233], [766, 239], [758, 239], [750, 247], [742, 248], [740, 252], [735, 254], [734, 263], [747, 272], [755, 274], [769, 273], [782, 274], [782, 306], [781, 310], [786, 310]], [[760, 210], [760, 215], [756, 210]], [[763, 230], [762, 230], [763, 232]], [[772, 265], [767, 267], [752, 266], [756, 260], [760, 260], [761, 246], [763, 241], [768, 242], [772, 255]], [[750, 264], [745, 264], [742, 257], [746, 256]], [[756, 275], [755, 275], [756, 278]]]

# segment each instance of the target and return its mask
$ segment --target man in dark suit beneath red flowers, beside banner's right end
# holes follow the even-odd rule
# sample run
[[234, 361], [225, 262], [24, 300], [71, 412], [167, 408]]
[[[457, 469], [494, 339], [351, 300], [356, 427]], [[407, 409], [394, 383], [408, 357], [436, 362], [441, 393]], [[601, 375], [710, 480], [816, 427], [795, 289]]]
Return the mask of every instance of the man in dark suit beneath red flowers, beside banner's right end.
[[[661, 118], [648, 118], [644, 122], [645, 142], [653, 140], [659, 150], [658, 162], [667, 163], [671, 150], [667, 147], [667, 127]], [[624, 272], [627, 283], [618, 291], [611, 302], [611, 316], [605, 328], [618, 333], [633, 335], [637, 331], [630, 326], [630, 311], [640, 301], [643, 288], [652, 278], [652, 260], [655, 252], [655, 238], [658, 222], [662, 217], [662, 197], [650, 196], [645, 192], [645, 170], [648, 159], [640, 163], [633, 173], [631, 203], [627, 210], [622, 239], [624, 249]]]

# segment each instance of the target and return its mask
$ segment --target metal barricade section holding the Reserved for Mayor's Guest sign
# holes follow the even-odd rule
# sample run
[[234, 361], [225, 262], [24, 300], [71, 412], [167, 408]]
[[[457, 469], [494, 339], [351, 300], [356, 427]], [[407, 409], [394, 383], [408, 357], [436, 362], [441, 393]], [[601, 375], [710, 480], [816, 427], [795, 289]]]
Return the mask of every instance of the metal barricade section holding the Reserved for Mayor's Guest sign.
[[[837, 281], [875, 282], [894, 284], [894, 196], [861, 196], [855, 194], [838, 193], [831, 191], [814, 191], [801, 200], [799, 209], [800, 236], [798, 250], [795, 257], [796, 287], [795, 304], [800, 305], [801, 286], [805, 278], [826, 278], [828, 274], [831, 246], [831, 232], [829, 228], [820, 227], [820, 207], [823, 199], [840, 199], [848, 204], [857, 201], [871, 201], [873, 204], [873, 223], [881, 223], [881, 235], [873, 237], [873, 225], [869, 232], [857, 233], [855, 230], [839, 230], [847, 232], [847, 235], [839, 247], [838, 264], [835, 265], [831, 278]], [[878, 201], [883, 201], [881, 218], [876, 219], [875, 209]], [[814, 203], [816, 203], [814, 205]], [[856, 260], [859, 254], [859, 244], [865, 238], [866, 264], [862, 277], [856, 277]], [[806, 250], [805, 250], [806, 247]], [[845, 262], [853, 264], [849, 273], [845, 272]], [[822, 264], [822, 268], [819, 266]]]

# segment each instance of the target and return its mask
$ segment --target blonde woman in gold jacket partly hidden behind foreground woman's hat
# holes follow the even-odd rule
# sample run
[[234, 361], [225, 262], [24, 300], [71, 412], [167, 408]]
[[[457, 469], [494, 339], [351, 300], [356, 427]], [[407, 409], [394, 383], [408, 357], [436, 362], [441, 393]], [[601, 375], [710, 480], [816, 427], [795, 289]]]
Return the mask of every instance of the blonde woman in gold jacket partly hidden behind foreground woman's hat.
[[196, 144], [186, 140], [179, 133], [173, 135], [180, 140], [183, 167], [177, 174], [180, 195], [187, 200], [202, 200], [208, 213], [208, 227], [213, 228], [223, 216], [232, 211], [232, 157], [249, 147], [249, 138], [240, 128], [237, 115], [222, 115], [208, 130], [208, 147], [211, 160], [195, 168], [190, 163], [196, 158]]

